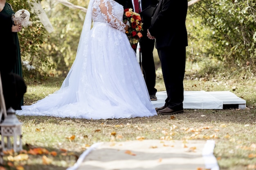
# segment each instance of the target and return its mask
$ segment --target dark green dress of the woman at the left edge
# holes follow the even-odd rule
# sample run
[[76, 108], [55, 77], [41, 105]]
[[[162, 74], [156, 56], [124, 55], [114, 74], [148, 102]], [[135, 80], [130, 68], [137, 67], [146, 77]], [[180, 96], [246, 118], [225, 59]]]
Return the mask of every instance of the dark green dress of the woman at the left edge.
[[[0, 13], [7, 14], [10, 16], [10, 22], [11, 22], [11, 15], [14, 13], [11, 9], [11, 5], [7, 2], [5, 3], [4, 9], [0, 11]], [[13, 32], [13, 39], [17, 47], [17, 62], [16, 65], [13, 68], [13, 73], [18, 74], [20, 77], [22, 77], [22, 67], [21, 67], [21, 57], [20, 57], [20, 42], [18, 39], [18, 34], [16, 32]], [[23, 98], [20, 101], [20, 105], [23, 105]], [[21, 109], [21, 108], [20, 108]]]

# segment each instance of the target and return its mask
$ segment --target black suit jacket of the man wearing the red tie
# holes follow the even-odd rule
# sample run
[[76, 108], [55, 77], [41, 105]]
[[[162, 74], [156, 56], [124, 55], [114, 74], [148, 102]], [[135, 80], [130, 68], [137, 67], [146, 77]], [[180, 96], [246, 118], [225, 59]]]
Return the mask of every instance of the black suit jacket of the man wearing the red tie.
[[[132, 8], [132, 0], [115, 0], [119, 4], [123, 5], [124, 9]], [[158, 0], [140, 0], [141, 1], [141, 11], [146, 9], [149, 5], [157, 5]], [[134, 11], [134, 10], [133, 10]], [[143, 29], [148, 29], [150, 26], [151, 18], [142, 18], [143, 19]]]

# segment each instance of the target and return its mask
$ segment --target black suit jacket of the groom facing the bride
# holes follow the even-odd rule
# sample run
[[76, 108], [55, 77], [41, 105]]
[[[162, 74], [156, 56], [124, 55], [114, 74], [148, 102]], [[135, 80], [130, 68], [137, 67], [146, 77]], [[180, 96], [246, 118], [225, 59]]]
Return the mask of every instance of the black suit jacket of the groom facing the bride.
[[188, 45], [185, 24], [187, 9], [187, 0], [159, 0], [148, 28], [151, 36], [156, 38], [157, 49]]

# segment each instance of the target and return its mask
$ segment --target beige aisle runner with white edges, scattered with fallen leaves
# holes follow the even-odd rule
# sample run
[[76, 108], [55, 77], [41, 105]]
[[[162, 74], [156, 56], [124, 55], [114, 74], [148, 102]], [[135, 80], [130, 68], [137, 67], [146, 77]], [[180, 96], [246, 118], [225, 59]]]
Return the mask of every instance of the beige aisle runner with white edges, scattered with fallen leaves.
[[67, 170], [219, 170], [213, 140], [95, 143]]

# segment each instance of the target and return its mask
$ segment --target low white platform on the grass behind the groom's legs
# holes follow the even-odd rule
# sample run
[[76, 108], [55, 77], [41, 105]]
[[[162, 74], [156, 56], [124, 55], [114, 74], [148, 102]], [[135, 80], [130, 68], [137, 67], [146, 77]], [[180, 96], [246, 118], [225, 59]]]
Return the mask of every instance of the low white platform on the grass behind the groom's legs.
[[[167, 97], [166, 91], [157, 92], [157, 101], [151, 101], [155, 107], [162, 107]], [[245, 109], [246, 101], [229, 91], [184, 91], [184, 109]]]

